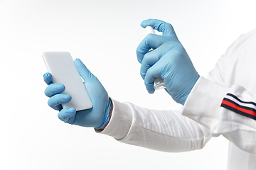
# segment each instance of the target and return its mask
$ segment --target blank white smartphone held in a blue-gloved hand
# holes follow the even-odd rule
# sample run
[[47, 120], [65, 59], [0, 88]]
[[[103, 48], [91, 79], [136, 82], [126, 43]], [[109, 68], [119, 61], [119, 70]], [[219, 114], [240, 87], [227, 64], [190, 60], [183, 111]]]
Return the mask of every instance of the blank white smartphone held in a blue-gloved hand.
[[70, 102], [63, 104], [63, 108], [75, 108], [77, 111], [92, 108], [92, 101], [69, 52], [43, 52], [43, 61], [53, 75], [53, 83], [64, 84], [62, 94], [72, 97]]

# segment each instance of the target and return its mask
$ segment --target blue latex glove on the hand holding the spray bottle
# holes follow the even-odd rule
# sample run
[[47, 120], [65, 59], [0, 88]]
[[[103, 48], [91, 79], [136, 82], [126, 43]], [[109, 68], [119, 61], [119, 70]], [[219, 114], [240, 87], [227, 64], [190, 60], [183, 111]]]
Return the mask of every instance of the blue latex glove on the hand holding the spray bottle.
[[[141, 76], [149, 94], [154, 93], [154, 80], [164, 79], [166, 91], [177, 103], [184, 104], [199, 78], [186, 50], [179, 42], [171, 24], [156, 19], [143, 21], [163, 35], [149, 34], [137, 47], [137, 59], [142, 64]], [[149, 52], [153, 48], [154, 50]]]

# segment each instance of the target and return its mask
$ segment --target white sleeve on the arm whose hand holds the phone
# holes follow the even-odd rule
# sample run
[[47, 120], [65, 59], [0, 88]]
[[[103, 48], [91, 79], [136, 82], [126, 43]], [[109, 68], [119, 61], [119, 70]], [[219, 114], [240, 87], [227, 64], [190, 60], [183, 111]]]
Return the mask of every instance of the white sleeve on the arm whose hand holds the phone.
[[[110, 123], [102, 134], [119, 142], [163, 152], [201, 149], [210, 140], [206, 128], [180, 111], [156, 111], [112, 100]], [[182, 109], [182, 108], [181, 108]]]

